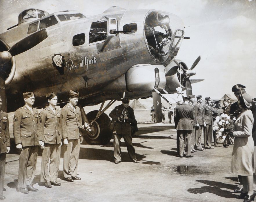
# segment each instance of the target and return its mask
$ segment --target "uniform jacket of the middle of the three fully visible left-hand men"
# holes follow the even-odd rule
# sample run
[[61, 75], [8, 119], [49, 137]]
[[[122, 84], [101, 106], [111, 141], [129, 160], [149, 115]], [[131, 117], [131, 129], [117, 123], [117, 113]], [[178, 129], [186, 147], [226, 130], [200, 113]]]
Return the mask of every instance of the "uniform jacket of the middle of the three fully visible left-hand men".
[[60, 144], [61, 133], [59, 130], [59, 123], [61, 113], [59, 109], [55, 109], [55, 113], [48, 106], [39, 114], [38, 133], [40, 140], [48, 144]]

